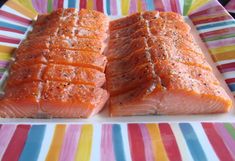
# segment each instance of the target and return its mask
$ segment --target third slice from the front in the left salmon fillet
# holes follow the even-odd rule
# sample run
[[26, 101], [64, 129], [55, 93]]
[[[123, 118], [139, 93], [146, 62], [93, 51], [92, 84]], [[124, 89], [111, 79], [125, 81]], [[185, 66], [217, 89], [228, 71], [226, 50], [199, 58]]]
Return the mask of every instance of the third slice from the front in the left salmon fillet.
[[17, 50], [15, 55], [16, 60], [12, 65], [12, 68], [19, 68], [35, 63], [54, 63], [81, 66], [104, 72], [107, 63], [107, 58], [104, 55], [95, 52], [65, 49]]

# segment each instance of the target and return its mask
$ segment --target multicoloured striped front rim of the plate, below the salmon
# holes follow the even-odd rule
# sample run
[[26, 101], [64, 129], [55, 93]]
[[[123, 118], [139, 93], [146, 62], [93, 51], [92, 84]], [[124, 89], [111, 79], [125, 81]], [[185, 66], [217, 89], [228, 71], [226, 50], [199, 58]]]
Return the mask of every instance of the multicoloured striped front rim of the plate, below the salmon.
[[0, 160], [235, 160], [235, 124], [1, 125]]

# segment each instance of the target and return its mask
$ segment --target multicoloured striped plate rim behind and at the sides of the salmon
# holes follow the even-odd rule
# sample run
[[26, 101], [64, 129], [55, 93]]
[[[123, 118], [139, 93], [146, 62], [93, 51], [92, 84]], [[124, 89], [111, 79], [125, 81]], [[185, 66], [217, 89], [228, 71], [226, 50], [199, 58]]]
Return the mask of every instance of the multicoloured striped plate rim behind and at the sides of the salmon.
[[0, 92], [11, 56], [2, 46], [16, 48], [37, 14], [58, 8], [89, 8], [109, 16], [145, 10], [174, 11], [189, 16], [235, 93], [235, 20], [216, 0], [9, 0], [0, 9]]

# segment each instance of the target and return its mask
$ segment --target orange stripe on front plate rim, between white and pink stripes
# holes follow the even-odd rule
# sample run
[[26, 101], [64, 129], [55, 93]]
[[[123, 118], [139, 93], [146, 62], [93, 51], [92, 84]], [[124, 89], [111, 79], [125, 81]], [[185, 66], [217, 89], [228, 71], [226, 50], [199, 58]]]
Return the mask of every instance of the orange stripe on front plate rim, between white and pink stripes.
[[56, 125], [52, 144], [47, 153], [46, 161], [59, 160], [60, 150], [64, 139], [66, 125]]

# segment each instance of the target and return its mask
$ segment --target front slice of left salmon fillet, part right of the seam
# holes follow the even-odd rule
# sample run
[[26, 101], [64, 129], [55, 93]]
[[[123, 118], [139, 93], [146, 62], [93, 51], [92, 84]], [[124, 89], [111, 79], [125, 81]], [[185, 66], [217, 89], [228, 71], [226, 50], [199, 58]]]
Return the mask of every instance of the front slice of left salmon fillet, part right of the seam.
[[107, 91], [99, 87], [48, 81], [40, 106], [49, 116], [87, 118], [99, 112], [108, 97]]

